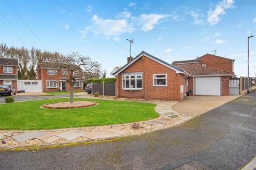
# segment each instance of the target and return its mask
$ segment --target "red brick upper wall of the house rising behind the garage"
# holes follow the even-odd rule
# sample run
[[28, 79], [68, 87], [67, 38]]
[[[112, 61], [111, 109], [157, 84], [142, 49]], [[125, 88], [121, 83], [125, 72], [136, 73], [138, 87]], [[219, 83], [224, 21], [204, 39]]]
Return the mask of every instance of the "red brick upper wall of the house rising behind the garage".
[[201, 59], [201, 65], [206, 64], [206, 67], [233, 72], [232, 71], [233, 62], [227, 58], [206, 54], [199, 57], [199, 59]]

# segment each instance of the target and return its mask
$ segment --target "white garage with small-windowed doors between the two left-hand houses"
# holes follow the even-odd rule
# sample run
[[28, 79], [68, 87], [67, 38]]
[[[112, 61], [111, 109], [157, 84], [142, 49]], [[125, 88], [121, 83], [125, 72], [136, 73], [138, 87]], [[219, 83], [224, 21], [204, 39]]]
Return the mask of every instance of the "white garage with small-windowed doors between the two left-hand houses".
[[18, 91], [25, 90], [25, 92], [42, 92], [42, 80], [18, 80]]

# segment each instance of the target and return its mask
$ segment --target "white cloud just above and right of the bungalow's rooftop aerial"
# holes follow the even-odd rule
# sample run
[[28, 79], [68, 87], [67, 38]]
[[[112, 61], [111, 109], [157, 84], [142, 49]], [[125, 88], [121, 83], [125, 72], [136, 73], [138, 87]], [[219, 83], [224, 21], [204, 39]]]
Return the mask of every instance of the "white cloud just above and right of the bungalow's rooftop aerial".
[[135, 24], [141, 25], [142, 31], [152, 30], [161, 19], [166, 18], [169, 15], [164, 14], [141, 14], [139, 17], [132, 17]]

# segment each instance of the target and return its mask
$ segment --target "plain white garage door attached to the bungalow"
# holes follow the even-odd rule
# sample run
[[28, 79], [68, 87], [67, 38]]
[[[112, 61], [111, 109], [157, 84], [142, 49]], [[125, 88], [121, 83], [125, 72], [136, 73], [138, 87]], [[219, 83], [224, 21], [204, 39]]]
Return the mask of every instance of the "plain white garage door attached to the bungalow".
[[221, 95], [221, 77], [195, 78], [195, 95]]

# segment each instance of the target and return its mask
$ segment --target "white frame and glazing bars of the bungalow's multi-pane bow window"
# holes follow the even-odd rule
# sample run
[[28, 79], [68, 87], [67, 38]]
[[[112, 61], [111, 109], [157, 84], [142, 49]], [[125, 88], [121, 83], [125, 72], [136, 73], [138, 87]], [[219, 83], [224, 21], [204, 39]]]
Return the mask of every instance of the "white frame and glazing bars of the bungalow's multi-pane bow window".
[[[131, 78], [134, 76], [134, 78]], [[140, 76], [141, 78], [138, 78]], [[129, 77], [129, 78], [126, 78]], [[129, 88], [126, 87], [126, 80], [129, 80]], [[131, 88], [131, 80], [135, 80], [135, 87]], [[141, 88], [137, 88], [137, 80], [141, 80]], [[143, 89], [143, 74], [123, 74], [122, 75], [123, 90], [142, 90]]]

